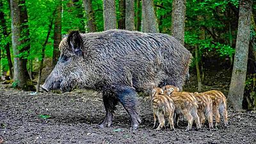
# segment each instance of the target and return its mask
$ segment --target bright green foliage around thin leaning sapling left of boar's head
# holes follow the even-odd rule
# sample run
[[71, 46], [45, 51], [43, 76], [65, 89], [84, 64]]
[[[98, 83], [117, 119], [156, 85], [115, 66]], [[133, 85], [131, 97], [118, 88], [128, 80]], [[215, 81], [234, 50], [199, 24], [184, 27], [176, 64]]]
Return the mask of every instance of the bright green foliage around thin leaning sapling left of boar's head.
[[[30, 35], [30, 52], [28, 59], [35, 58], [42, 59], [42, 45], [45, 42], [47, 35], [49, 21], [52, 17], [53, 10], [56, 7], [56, 1], [45, 0], [36, 1], [31, 0], [26, 2], [29, 15], [29, 35]], [[45, 47], [45, 55], [52, 56], [53, 33]]]

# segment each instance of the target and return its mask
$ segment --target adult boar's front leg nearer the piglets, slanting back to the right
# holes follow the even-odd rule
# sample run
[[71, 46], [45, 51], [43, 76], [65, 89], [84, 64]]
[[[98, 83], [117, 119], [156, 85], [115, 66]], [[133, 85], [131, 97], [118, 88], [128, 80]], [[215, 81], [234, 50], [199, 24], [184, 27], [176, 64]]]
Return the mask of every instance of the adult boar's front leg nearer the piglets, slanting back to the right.
[[137, 93], [134, 88], [129, 86], [116, 88], [116, 97], [120, 100], [125, 110], [131, 117], [132, 129], [137, 129], [141, 123], [138, 112], [136, 111], [136, 104], [138, 103]]

